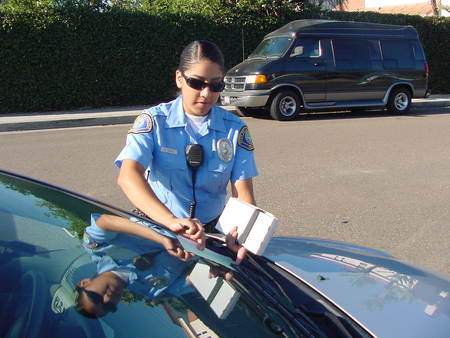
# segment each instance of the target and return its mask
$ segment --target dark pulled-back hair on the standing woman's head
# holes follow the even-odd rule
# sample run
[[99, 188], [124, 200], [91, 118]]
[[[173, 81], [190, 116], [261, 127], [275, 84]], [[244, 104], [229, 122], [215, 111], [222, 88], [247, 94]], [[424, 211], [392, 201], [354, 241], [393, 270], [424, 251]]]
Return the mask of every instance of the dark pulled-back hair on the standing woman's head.
[[214, 42], [208, 40], [195, 40], [184, 47], [180, 55], [178, 70], [184, 73], [202, 59], [218, 64], [222, 71], [225, 71], [222, 52]]

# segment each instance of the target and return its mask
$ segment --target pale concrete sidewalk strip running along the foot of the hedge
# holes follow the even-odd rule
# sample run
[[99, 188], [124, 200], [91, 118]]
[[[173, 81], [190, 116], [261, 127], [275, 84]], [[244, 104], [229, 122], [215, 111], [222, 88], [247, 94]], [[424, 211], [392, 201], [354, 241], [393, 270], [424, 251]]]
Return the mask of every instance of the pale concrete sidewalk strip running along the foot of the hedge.
[[[425, 99], [413, 99], [413, 108], [448, 107], [450, 95], [431, 95]], [[131, 124], [148, 106], [123, 108], [86, 109], [51, 113], [0, 114], [0, 132], [36, 129], [86, 127], [111, 124]], [[233, 106], [223, 108], [234, 111]]]

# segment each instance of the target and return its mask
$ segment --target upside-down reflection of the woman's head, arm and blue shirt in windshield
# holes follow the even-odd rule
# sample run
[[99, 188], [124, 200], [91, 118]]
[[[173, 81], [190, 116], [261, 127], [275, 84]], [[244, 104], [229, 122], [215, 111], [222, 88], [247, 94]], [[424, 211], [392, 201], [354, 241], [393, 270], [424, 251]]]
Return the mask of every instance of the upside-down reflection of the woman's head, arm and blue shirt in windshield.
[[114, 312], [125, 287], [149, 298], [163, 292], [178, 295], [192, 291], [185, 281], [189, 268], [185, 262], [192, 255], [150, 224], [93, 214], [83, 246], [97, 264], [95, 277], [77, 283], [76, 308], [85, 316]]

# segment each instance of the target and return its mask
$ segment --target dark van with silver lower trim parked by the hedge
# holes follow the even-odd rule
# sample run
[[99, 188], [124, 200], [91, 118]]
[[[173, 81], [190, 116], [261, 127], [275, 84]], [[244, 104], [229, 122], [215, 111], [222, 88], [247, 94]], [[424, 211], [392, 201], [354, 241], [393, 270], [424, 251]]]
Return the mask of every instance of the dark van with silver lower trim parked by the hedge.
[[300, 112], [386, 107], [406, 113], [425, 97], [428, 65], [411, 26], [297, 20], [267, 34], [225, 76], [223, 105], [276, 120]]

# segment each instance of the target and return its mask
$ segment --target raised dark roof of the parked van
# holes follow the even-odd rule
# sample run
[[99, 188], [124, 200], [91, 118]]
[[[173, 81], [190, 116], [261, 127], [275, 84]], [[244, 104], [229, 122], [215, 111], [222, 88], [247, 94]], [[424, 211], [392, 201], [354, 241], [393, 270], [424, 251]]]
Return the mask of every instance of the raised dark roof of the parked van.
[[386, 38], [417, 38], [418, 34], [412, 26], [397, 26], [370, 22], [334, 21], [334, 20], [295, 20], [267, 34], [265, 38], [276, 36], [360, 36]]

